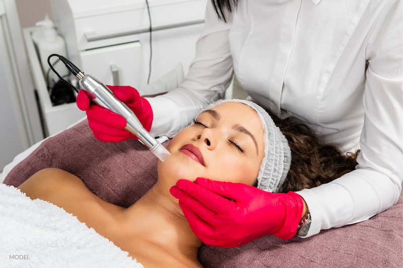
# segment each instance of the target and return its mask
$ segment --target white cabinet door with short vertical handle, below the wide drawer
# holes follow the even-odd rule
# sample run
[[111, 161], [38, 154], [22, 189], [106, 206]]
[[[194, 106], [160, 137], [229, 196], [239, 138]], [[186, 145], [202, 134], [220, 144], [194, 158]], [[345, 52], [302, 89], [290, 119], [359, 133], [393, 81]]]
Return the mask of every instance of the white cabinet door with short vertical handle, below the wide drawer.
[[131, 42], [80, 52], [82, 71], [104, 84], [140, 87], [144, 81], [140, 42]]

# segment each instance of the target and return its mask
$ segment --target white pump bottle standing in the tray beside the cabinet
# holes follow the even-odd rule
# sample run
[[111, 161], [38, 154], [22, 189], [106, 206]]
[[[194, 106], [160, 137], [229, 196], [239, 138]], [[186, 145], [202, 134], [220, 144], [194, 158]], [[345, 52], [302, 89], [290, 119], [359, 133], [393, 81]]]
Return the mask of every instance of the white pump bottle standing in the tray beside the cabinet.
[[[43, 21], [37, 22], [36, 26], [42, 27], [40, 39], [37, 41], [38, 52], [46, 85], [51, 88], [59, 78], [50, 69], [47, 58], [50, 54], [58, 54], [67, 58], [66, 46], [64, 39], [57, 34], [53, 22], [47, 15]], [[66, 78], [70, 74], [69, 70], [57, 57], [51, 57], [50, 63], [61, 77]]]

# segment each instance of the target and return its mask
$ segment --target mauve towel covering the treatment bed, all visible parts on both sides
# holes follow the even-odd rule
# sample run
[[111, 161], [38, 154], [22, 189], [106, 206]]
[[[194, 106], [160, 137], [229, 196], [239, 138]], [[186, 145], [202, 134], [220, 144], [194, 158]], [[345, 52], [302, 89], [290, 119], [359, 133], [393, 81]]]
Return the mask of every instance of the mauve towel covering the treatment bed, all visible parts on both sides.
[[[87, 121], [45, 140], [15, 166], [4, 183], [15, 187], [45, 167], [83, 180], [104, 200], [128, 207], [156, 182], [157, 158], [135, 140], [96, 140]], [[302, 239], [265, 236], [244, 246], [202, 246], [204, 267], [403, 267], [402, 201], [371, 219]]]

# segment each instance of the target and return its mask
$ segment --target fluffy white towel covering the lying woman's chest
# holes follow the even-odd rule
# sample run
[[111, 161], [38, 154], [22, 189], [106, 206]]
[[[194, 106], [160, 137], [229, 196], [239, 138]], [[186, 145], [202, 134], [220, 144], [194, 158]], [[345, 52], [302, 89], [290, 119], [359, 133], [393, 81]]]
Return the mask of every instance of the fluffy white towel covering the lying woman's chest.
[[0, 267], [143, 267], [75, 216], [0, 184]]

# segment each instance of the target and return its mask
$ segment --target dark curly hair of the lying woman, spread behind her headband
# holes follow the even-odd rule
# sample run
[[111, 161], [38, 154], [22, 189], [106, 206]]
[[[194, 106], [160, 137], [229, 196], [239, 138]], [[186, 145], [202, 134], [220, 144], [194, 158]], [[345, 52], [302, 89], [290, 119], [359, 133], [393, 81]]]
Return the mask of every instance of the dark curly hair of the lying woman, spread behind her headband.
[[280, 193], [313, 188], [355, 169], [359, 151], [343, 154], [336, 146], [321, 144], [301, 121], [291, 117], [280, 120], [270, 115], [291, 148], [291, 167]]

